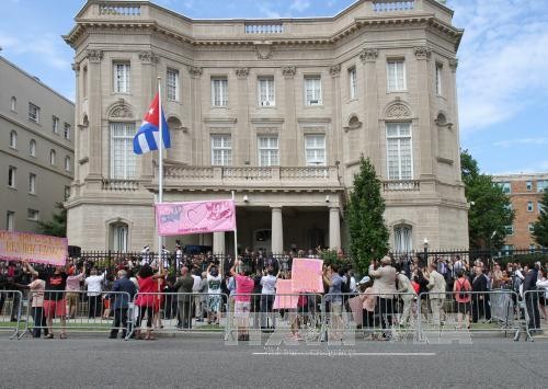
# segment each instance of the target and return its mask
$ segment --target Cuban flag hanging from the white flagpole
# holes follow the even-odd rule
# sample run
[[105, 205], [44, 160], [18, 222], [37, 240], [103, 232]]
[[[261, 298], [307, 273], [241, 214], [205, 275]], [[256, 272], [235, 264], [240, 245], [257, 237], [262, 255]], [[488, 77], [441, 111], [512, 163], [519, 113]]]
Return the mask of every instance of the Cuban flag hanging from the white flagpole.
[[[171, 147], [170, 131], [168, 128], [168, 122], [165, 122], [165, 116], [162, 112], [162, 140], [163, 148], [168, 149]], [[137, 134], [134, 138], [134, 152], [136, 155], [141, 155], [149, 152], [150, 150], [158, 150], [158, 145], [160, 144], [160, 100], [158, 99], [158, 93], [150, 104], [142, 124], [140, 125]]]

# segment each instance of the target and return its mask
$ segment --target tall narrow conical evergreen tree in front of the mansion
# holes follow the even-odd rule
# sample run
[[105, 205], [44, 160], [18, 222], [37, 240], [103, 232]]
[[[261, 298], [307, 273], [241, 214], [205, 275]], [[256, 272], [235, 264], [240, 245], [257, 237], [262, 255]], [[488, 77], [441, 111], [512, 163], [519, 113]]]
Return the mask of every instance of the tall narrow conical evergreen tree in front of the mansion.
[[350, 232], [350, 252], [356, 271], [365, 273], [372, 259], [387, 254], [388, 228], [385, 225], [385, 199], [380, 195], [380, 181], [369, 159], [359, 160], [359, 172], [345, 209]]

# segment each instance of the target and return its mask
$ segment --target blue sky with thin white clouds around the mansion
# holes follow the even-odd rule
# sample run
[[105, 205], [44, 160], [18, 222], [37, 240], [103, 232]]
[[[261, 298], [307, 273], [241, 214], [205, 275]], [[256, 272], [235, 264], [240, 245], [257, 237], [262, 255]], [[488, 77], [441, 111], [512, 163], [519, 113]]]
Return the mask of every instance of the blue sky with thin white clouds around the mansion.
[[[155, 0], [194, 19], [331, 16], [354, 0]], [[0, 0], [0, 55], [70, 100], [60, 37], [84, 0]], [[447, 0], [457, 54], [460, 146], [489, 174], [548, 172], [548, 0]]]

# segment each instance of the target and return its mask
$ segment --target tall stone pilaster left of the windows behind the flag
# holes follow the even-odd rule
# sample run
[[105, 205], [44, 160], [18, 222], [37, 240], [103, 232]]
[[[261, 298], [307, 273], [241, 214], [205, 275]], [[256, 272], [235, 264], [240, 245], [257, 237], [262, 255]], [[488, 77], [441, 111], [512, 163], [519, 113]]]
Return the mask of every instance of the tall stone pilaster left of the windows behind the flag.
[[[90, 169], [87, 179], [99, 180], [102, 178], [102, 113], [101, 113], [101, 60], [103, 52], [90, 49], [87, 50], [89, 61], [88, 77], [90, 78], [89, 93], [89, 150]], [[76, 161], [78, 163], [78, 161]]]

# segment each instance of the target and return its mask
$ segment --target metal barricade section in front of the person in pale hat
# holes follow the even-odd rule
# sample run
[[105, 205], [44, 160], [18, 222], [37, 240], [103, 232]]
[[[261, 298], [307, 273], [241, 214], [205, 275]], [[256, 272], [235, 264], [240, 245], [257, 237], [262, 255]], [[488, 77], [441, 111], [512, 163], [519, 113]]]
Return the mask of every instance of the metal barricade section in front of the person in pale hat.
[[414, 293], [326, 295], [326, 337], [352, 344], [356, 339], [406, 341], [416, 336]]

